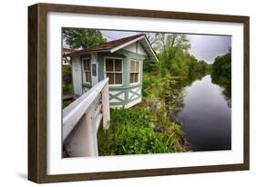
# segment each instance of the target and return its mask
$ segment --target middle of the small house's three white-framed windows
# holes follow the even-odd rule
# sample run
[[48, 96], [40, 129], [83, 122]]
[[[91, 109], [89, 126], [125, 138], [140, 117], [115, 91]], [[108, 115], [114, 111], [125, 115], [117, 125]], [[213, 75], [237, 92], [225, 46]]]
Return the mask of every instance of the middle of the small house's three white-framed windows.
[[109, 78], [108, 84], [123, 84], [123, 60], [120, 58], [105, 59], [106, 74]]

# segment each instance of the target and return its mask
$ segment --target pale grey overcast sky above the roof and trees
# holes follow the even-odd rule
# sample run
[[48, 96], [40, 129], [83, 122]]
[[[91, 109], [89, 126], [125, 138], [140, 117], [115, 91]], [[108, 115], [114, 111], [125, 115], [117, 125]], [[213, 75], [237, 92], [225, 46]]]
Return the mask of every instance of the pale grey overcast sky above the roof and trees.
[[[108, 41], [138, 34], [138, 32], [111, 30], [101, 30], [101, 33]], [[188, 37], [191, 45], [190, 54], [208, 64], [212, 64], [218, 55], [227, 53], [231, 47], [231, 36], [188, 34]], [[67, 47], [67, 44], [64, 44], [64, 46]]]

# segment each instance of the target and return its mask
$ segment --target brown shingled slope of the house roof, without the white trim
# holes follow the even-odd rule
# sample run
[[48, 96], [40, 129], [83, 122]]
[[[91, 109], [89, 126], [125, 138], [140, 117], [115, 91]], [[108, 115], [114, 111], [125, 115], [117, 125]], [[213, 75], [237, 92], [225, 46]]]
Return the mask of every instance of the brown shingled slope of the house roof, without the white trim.
[[74, 54], [84, 54], [84, 53], [88, 53], [88, 52], [97, 52], [97, 51], [108, 51], [112, 48], [115, 48], [121, 44], [126, 44], [142, 35], [145, 35], [145, 34], [136, 34], [136, 35], [132, 35], [132, 36], [128, 36], [128, 37], [124, 37], [124, 38], [121, 38], [121, 39], [118, 39], [118, 40], [113, 40], [113, 41], [110, 41], [108, 43], [104, 43], [104, 44], [97, 44], [97, 45], [94, 45], [94, 46], [91, 46], [91, 47], [88, 47], [86, 49], [81, 49], [81, 50], [77, 50], [73, 53], [70, 53], [68, 55], [74, 55]]

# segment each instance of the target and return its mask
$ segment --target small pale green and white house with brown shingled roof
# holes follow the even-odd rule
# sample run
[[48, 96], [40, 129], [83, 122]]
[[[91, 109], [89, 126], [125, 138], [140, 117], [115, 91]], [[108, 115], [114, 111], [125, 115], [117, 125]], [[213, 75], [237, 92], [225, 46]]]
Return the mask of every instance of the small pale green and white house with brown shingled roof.
[[67, 55], [71, 57], [75, 98], [108, 77], [110, 107], [125, 108], [141, 102], [144, 60], [158, 61], [145, 34], [97, 44]]

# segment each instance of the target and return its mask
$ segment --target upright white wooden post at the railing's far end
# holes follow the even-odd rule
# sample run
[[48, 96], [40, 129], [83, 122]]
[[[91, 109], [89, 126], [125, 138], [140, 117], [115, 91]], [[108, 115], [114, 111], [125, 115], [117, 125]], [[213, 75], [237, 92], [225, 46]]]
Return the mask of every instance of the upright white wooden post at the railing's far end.
[[110, 109], [109, 109], [109, 94], [108, 83], [102, 89], [102, 114], [103, 114], [103, 129], [108, 129], [110, 122]]

